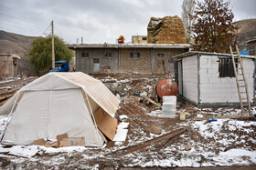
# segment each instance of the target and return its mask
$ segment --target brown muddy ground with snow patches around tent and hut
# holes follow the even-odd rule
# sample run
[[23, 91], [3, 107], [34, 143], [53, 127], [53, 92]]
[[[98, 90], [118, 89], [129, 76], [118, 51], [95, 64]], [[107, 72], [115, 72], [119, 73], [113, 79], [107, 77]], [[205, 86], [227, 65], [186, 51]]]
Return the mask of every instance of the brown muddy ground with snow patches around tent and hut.
[[[232, 125], [237, 122], [231, 119], [221, 120], [219, 134], [213, 133], [217, 128], [213, 128], [215, 125], [207, 120], [195, 121], [197, 114], [204, 117], [236, 115], [240, 112], [238, 108], [197, 108], [178, 99], [176, 109], [179, 112], [187, 112], [189, 114], [187, 120], [181, 121], [178, 115], [175, 118], [161, 117], [161, 108], [136, 94], [146, 92], [149, 97], [155, 98], [154, 85], [165, 78], [165, 75], [92, 74], [91, 76], [101, 80], [115, 95], [120, 95], [122, 103], [116, 117], [120, 121], [129, 123], [125, 142], [109, 141], [103, 148], [78, 149], [72, 152], [47, 152], [42, 149], [31, 158], [1, 154], [0, 162], [3, 169], [179, 169], [179, 167], [253, 169], [255, 167], [256, 162], [250, 156], [241, 156], [240, 159], [236, 158], [237, 160], [232, 160], [230, 157], [226, 162], [219, 161], [219, 157], [216, 156], [240, 148], [255, 151], [256, 125], [251, 124], [254, 120], [240, 120], [239, 123], [243, 128], [234, 128]], [[35, 78], [1, 83], [0, 87], [3, 90], [5, 87], [23, 86]], [[127, 118], [122, 118], [123, 115]], [[200, 133], [200, 126], [208, 127], [209, 134], [213, 133], [213, 135], [208, 137]], [[172, 140], [151, 145], [144, 150], [113, 157], [113, 153], [117, 150], [144, 143], [179, 128], [186, 128], [187, 131]]]

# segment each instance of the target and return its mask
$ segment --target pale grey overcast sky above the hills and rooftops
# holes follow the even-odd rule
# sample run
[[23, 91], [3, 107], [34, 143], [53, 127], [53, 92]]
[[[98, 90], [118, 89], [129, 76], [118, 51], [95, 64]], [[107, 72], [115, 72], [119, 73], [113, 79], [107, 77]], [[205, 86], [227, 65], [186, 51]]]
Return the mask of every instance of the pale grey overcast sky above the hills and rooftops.
[[[50, 33], [74, 44], [126, 42], [146, 35], [150, 17], [181, 16], [183, 0], [0, 0], [0, 30], [30, 36]], [[230, 0], [234, 21], [256, 18], [256, 0]]]

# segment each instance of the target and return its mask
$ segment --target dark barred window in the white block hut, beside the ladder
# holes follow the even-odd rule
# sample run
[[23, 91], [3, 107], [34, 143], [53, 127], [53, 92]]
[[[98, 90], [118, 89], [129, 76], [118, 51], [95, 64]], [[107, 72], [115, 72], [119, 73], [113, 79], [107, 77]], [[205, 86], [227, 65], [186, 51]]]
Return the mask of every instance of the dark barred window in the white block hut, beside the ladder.
[[232, 58], [219, 58], [219, 77], [235, 77]]

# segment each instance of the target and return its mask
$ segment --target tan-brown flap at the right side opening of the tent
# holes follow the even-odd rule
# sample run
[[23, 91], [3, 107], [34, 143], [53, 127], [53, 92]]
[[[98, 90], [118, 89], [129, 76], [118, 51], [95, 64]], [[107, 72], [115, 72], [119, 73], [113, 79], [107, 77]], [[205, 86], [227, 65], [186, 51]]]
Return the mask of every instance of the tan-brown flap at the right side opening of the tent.
[[101, 107], [93, 115], [101, 132], [110, 140], [113, 140], [118, 126], [118, 120], [107, 114]]

